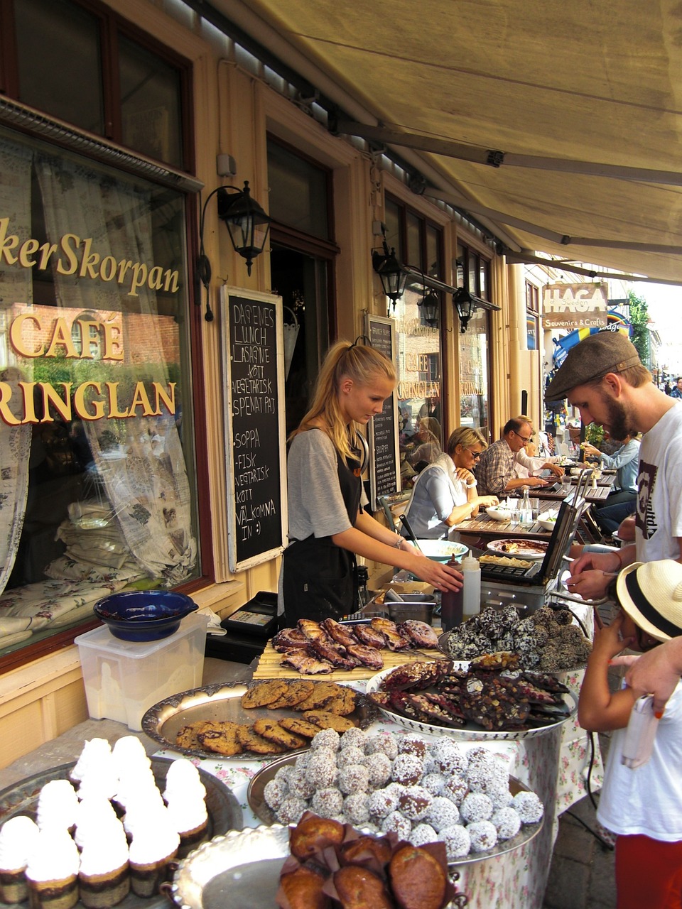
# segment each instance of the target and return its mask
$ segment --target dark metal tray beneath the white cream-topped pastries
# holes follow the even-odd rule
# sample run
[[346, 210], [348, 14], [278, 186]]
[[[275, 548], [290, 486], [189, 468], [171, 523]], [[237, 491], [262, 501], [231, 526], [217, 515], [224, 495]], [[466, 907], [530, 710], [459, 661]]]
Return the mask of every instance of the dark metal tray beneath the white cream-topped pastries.
[[[156, 785], [163, 791], [165, 788], [165, 774], [171, 764], [170, 760], [162, 757], [151, 758], [152, 772]], [[16, 814], [26, 814], [35, 821], [35, 814], [38, 807], [38, 795], [45, 783], [52, 780], [67, 780], [69, 774], [75, 767], [75, 761], [70, 764], [61, 764], [58, 767], [50, 767], [40, 773], [28, 776], [19, 783], [7, 786], [0, 792], [0, 825], [4, 824]], [[243, 818], [242, 809], [236, 800], [236, 797], [212, 774], [206, 773], [205, 770], [199, 769], [199, 778], [206, 788], [206, 809], [208, 811], [208, 835], [217, 836], [226, 834], [228, 831], [237, 832], [242, 829]], [[191, 854], [188, 858], [191, 857]], [[143, 899], [131, 893], [125, 897], [123, 902], [119, 903], [120, 909], [155, 909], [157, 906], [167, 906], [168, 901], [162, 895], [155, 895], [150, 899]], [[80, 906], [79, 902], [76, 906]]]

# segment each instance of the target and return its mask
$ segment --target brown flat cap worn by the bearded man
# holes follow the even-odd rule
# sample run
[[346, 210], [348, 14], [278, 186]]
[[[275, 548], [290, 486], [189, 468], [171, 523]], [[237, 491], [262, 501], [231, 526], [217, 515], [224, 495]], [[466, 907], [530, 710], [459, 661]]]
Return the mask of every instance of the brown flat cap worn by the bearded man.
[[637, 347], [623, 332], [597, 332], [568, 351], [557, 375], [547, 385], [545, 400], [563, 401], [577, 385], [585, 385], [607, 373], [619, 373], [642, 365]]

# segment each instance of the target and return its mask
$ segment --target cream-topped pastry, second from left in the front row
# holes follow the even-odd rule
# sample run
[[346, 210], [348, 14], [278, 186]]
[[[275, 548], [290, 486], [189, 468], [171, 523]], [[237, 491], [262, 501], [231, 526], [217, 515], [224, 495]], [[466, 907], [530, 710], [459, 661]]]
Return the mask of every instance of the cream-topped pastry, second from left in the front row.
[[65, 829], [41, 830], [26, 866], [30, 909], [72, 909], [78, 902], [79, 864], [78, 850]]

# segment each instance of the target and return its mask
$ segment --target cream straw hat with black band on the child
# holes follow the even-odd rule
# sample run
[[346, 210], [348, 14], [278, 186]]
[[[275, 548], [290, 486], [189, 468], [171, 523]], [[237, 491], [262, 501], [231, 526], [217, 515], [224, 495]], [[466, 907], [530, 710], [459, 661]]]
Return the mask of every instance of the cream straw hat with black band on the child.
[[639, 628], [657, 641], [682, 635], [682, 564], [634, 562], [618, 574], [618, 600]]

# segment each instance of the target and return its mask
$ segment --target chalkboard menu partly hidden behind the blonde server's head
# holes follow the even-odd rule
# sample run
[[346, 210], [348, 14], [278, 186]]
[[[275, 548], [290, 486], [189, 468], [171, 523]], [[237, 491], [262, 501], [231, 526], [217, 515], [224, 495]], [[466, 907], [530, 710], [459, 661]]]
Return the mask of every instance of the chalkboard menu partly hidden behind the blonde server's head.
[[[366, 315], [366, 335], [373, 347], [396, 362], [396, 330], [393, 319]], [[397, 405], [394, 392], [384, 402], [384, 409], [369, 422], [369, 488], [370, 506], [376, 511], [379, 495], [390, 495], [399, 488]]]

